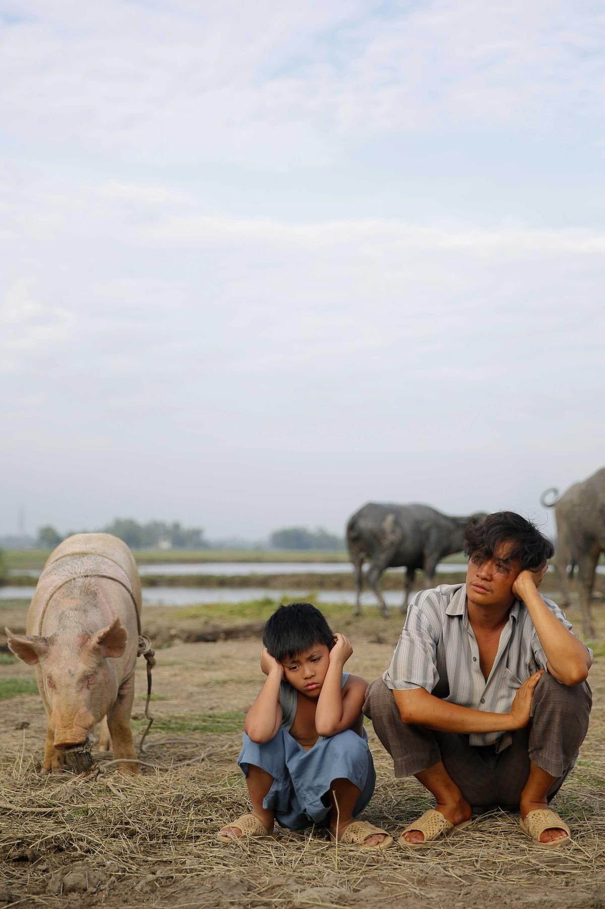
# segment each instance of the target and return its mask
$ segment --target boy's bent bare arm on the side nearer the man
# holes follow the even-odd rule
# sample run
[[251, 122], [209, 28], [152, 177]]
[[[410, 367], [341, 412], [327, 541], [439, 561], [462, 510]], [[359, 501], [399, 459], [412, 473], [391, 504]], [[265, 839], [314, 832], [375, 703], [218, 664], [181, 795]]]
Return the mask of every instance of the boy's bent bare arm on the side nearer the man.
[[324, 736], [342, 733], [359, 720], [367, 688], [363, 679], [351, 676], [342, 689], [342, 666], [351, 656], [352, 646], [343, 634], [334, 634], [334, 640], [315, 711], [315, 729]]

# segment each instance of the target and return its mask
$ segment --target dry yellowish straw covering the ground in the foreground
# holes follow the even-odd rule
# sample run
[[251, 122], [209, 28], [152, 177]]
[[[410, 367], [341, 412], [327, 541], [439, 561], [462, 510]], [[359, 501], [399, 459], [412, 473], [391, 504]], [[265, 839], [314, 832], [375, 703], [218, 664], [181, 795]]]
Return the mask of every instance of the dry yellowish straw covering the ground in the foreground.
[[[140, 777], [104, 773], [45, 777], [31, 760], [5, 763], [0, 806], [0, 905], [479, 906], [543, 902], [597, 906], [605, 867], [603, 727], [592, 730], [581, 764], [557, 807], [572, 828], [564, 852], [537, 849], [514, 815], [493, 812], [430, 849], [371, 853], [321, 831], [219, 844], [217, 829], [247, 810], [234, 767], [236, 734], [154, 742], [145, 759], [172, 771]], [[395, 831], [426, 807], [414, 781], [395, 781], [372, 742], [379, 783], [368, 820]], [[201, 761], [195, 759], [206, 753]], [[26, 883], [29, 894], [23, 891]], [[84, 888], [87, 892], [84, 894]], [[73, 896], [70, 896], [70, 890]], [[17, 895], [22, 894], [22, 895]], [[29, 902], [28, 902], [29, 901]]]

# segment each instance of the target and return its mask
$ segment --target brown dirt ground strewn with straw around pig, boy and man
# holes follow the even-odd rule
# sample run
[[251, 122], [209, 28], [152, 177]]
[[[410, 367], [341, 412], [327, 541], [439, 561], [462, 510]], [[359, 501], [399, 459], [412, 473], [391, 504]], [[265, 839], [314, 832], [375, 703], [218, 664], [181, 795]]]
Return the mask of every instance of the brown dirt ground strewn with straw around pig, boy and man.
[[[602, 651], [605, 608], [595, 604], [595, 611]], [[575, 610], [569, 614], [578, 623]], [[18, 611], [4, 617], [18, 626]], [[573, 836], [564, 851], [532, 846], [518, 816], [501, 812], [412, 852], [397, 845], [380, 853], [336, 849], [318, 831], [280, 831], [274, 839], [225, 845], [216, 841], [218, 827], [247, 810], [235, 759], [243, 714], [263, 681], [260, 639], [181, 643], [169, 611], [150, 609], [145, 622], [157, 633], [164, 629], [161, 639], [173, 643], [156, 653], [156, 719], [140, 777], [113, 773], [111, 755], [98, 754], [91, 774], [41, 777], [45, 713], [39, 695], [0, 701], [0, 909], [474, 909], [496, 903], [605, 909], [605, 656], [590, 674], [589, 735], [555, 803]], [[401, 625], [398, 615], [386, 621], [377, 614], [361, 621], [343, 617], [335, 630], [349, 634], [355, 648], [346, 668], [368, 681], [381, 674]], [[136, 741], [144, 728], [139, 663]], [[0, 665], [0, 683], [32, 676], [25, 664]], [[393, 779], [389, 755], [371, 726], [368, 733], [378, 780], [364, 816], [394, 833], [429, 800], [415, 780]]]

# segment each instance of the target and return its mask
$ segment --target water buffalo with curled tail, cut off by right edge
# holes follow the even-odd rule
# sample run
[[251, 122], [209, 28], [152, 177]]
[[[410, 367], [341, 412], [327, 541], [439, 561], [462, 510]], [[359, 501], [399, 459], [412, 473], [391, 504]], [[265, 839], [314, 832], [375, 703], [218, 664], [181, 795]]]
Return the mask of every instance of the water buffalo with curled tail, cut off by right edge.
[[599, 556], [605, 552], [605, 467], [589, 476], [582, 483], [575, 483], [560, 498], [547, 502], [547, 496], [559, 494], [558, 489], [547, 489], [541, 494], [545, 508], [554, 507], [557, 517], [556, 568], [563, 604], [570, 604], [567, 581], [568, 565], [578, 566], [580, 583], [580, 610], [582, 633], [594, 638], [595, 629], [590, 612], [590, 594]]

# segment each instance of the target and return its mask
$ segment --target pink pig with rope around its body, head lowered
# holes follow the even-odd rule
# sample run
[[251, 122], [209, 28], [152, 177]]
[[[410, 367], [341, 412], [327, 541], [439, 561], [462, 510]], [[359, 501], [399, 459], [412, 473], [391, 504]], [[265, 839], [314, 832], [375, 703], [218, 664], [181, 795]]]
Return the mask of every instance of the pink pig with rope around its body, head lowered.
[[[60, 771], [107, 717], [115, 758], [136, 759], [130, 714], [141, 614], [141, 582], [128, 546], [111, 534], [74, 534], [58, 545], [35, 588], [27, 634], [8, 645], [35, 665], [44, 701], [43, 772]], [[101, 747], [109, 747], [102, 734]], [[139, 773], [138, 764], [118, 764]]]

